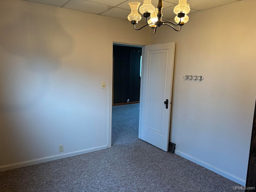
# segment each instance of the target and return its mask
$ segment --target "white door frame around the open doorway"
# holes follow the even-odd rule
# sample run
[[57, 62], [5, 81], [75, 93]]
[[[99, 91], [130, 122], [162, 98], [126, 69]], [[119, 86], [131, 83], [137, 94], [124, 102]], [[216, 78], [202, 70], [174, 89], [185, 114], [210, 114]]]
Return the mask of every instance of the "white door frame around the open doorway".
[[[109, 37], [109, 63], [108, 63], [108, 148], [111, 147], [112, 133], [112, 89], [113, 89], [113, 43], [126, 45], [145, 46], [149, 45], [149, 41], [134, 40], [120, 37]], [[144, 47], [142, 47], [142, 58], [144, 56]], [[143, 66], [143, 65], [142, 65]], [[142, 77], [141, 77], [142, 78]], [[140, 90], [141, 93], [141, 90]], [[140, 138], [140, 132], [139, 132]]]

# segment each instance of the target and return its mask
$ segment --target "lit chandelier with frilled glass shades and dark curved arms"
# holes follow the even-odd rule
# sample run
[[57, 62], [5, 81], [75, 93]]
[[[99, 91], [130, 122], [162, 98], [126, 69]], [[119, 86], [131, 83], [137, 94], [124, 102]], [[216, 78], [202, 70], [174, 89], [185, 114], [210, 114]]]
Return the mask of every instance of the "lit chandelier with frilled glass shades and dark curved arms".
[[[174, 18], [174, 21], [176, 22], [170, 22], [170, 21], [162, 21], [162, 9], [163, 9], [163, 2], [162, 0], [158, 1], [157, 8], [155, 8], [151, 4], [151, 0], [144, 0], [143, 5], [140, 6], [140, 2], [130, 2], [129, 3], [131, 8], [131, 13], [128, 15], [128, 20], [134, 25], [134, 29], [141, 30], [142, 28], [146, 26], [150, 26], [153, 29], [153, 32], [156, 33], [156, 29], [162, 25], [167, 25], [173, 28], [176, 31], [181, 30], [181, 26], [184, 25], [184, 23], [188, 22], [188, 16], [187, 14], [190, 12], [189, 4], [187, 4], [187, 0], [179, 0], [179, 4], [174, 7], [174, 13], [177, 15]], [[141, 15], [138, 13], [138, 8], [140, 6], [140, 13], [143, 14], [143, 16], [146, 18], [147, 24], [143, 27], [137, 29], [136, 24], [138, 21], [141, 20]], [[174, 26], [180, 26], [178, 29], [176, 29]]]

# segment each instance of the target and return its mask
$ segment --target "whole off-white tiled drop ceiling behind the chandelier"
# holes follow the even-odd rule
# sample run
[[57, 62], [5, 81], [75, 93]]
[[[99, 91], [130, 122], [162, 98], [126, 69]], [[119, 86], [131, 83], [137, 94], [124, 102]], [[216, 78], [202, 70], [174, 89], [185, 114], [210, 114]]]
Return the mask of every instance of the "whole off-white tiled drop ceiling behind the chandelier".
[[[72, 9], [92, 14], [109, 16], [113, 18], [127, 19], [130, 14], [129, 2], [140, 2], [143, 0], [25, 0], [51, 6], [58, 6], [66, 9]], [[241, 0], [187, 0], [190, 5], [190, 13], [223, 6], [226, 4], [238, 2]], [[157, 7], [158, 0], [151, 0], [152, 5]], [[163, 15], [164, 18], [174, 18], [176, 14], [173, 8], [178, 4], [179, 0], [163, 0]], [[189, 15], [188, 14], [188, 15]], [[142, 20], [144, 18], [142, 17]], [[164, 19], [163, 19], [164, 20]]]

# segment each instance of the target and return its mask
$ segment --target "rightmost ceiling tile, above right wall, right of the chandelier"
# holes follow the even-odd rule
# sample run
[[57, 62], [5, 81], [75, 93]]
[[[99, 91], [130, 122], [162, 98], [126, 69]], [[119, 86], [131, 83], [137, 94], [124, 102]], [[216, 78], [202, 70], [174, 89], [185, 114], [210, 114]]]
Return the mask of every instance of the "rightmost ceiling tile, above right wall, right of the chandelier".
[[190, 0], [188, 3], [190, 5], [190, 8], [202, 11], [202, 10], [234, 3], [237, 1], [240, 1], [240, 0]]

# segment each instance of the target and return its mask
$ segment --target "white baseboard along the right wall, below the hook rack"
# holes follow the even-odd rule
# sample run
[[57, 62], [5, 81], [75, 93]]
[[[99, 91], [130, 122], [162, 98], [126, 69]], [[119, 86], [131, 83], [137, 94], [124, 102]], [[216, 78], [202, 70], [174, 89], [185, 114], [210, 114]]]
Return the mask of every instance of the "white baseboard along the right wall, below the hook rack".
[[185, 159], [190, 160], [190, 161], [192, 161], [192, 162], [194, 162], [194, 163], [196, 163], [196, 164], [198, 164], [200, 166], [203, 166], [206, 169], [209, 169], [209, 170], [211, 170], [211, 171], [213, 171], [213, 172], [215, 172], [215, 173], [217, 173], [217, 174], [219, 174], [219, 175], [221, 175], [223, 177], [226, 177], [229, 180], [232, 180], [232, 181], [234, 181], [234, 182], [236, 182], [236, 183], [238, 183], [238, 184], [240, 184], [242, 186], [245, 186], [245, 184], [246, 184], [246, 181], [243, 180], [242, 178], [238, 178], [237, 176], [234, 176], [234, 175], [232, 175], [232, 174], [230, 174], [230, 173], [228, 173], [228, 172], [226, 172], [224, 170], [221, 170], [221, 169], [219, 169], [217, 167], [214, 167], [214, 166], [212, 166], [212, 165], [210, 165], [210, 164], [208, 164], [206, 162], [203, 162], [203, 161], [201, 161], [201, 160], [199, 160], [197, 158], [194, 158], [194, 157], [192, 157], [190, 155], [187, 155], [187, 154], [185, 154], [185, 153], [183, 153], [183, 152], [181, 152], [179, 150], [175, 150], [174, 153], [179, 155], [179, 156], [182, 156]]

